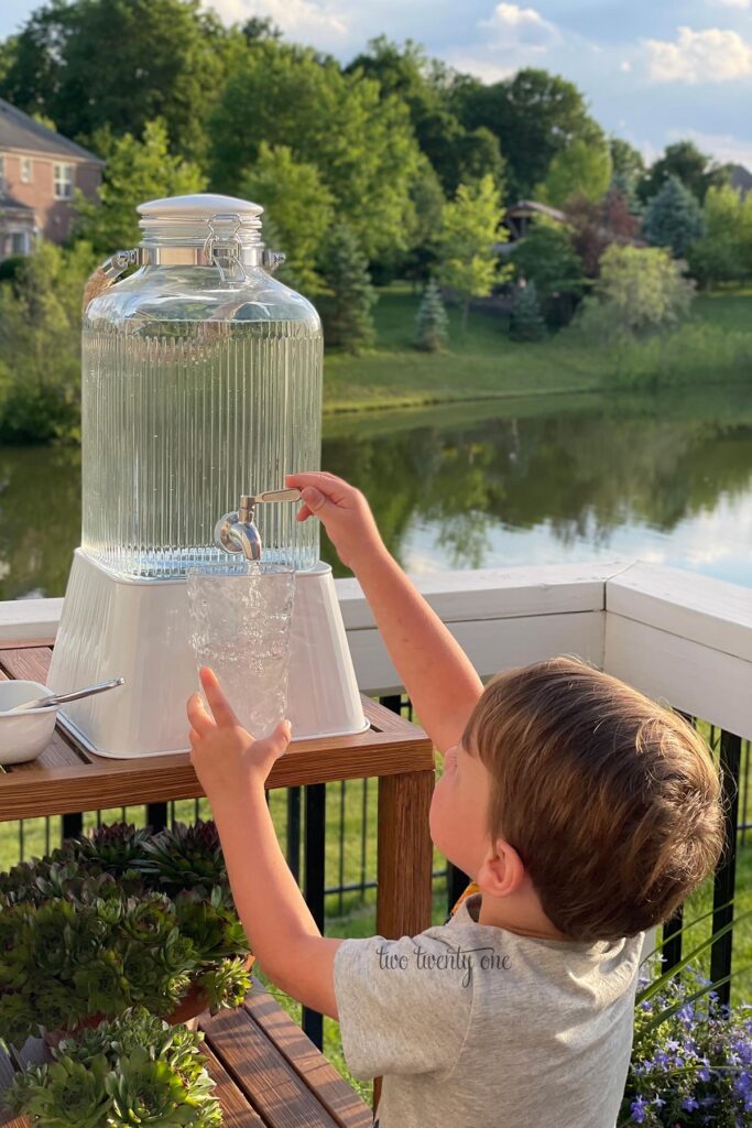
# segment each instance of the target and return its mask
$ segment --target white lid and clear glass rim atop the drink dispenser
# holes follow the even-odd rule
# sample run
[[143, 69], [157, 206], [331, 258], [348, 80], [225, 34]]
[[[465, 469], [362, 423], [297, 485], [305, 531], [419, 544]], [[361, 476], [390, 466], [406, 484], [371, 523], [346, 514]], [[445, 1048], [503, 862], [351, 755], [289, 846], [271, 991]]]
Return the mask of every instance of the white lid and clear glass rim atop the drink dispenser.
[[264, 209], [250, 200], [222, 196], [211, 192], [195, 192], [188, 196], [167, 196], [149, 200], [136, 209], [143, 244], [178, 240], [182, 244], [202, 244], [212, 232], [212, 220], [235, 223], [242, 244], [259, 241], [260, 215]]

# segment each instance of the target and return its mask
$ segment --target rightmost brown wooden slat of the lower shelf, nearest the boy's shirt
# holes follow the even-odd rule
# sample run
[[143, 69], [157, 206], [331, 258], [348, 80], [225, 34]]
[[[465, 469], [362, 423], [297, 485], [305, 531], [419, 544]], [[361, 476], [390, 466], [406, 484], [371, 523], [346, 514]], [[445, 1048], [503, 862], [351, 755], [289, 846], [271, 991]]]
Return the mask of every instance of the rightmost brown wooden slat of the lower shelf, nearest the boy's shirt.
[[339, 1123], [346, 1128], [371, 1128], [373, 1113], [369, 1107], [257, 980], [245, 1007]]

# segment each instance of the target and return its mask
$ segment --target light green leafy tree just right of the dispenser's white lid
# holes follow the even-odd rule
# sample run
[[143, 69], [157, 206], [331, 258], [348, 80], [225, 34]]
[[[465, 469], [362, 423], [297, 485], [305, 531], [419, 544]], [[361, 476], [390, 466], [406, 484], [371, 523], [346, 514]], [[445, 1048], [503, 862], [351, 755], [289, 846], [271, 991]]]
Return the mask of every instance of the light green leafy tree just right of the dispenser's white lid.
[[290, 281], [302, 290], [319, 289], [317, 263], [335, 211], [334, 196], [316, 165], [297, 161], [287, 146], [273, 148], [262, 141], [256, 161], [240, 182], [240, 195], [263, 204], [265, 224], [273, 221]]

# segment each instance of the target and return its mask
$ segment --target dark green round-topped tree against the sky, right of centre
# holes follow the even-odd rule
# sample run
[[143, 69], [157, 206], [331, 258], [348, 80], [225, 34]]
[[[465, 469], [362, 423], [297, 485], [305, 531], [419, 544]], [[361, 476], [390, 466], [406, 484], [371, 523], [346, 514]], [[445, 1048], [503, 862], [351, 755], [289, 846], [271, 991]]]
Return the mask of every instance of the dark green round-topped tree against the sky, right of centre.
[[603, 143], [603, 131], [590, 116], [582, 92], [545, 70], [524, 68], [489, 86], [460, 76], [450, 106], [466, 129], [485, 126], [498, 139], [511, 200], [530, 199], [554, 157], [573, 142]]

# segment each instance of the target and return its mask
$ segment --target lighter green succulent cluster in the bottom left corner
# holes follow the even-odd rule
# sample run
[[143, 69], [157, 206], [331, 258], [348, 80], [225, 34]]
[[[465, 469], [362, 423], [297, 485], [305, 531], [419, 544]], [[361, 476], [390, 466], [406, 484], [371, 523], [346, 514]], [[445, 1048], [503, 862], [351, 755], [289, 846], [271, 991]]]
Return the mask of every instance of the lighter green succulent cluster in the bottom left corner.
[[130, 1008], [61, 1041], [53, 1063], [17, 1075], [6, 1100], [38, 1128], [218, 1128], [202, 1041]]

